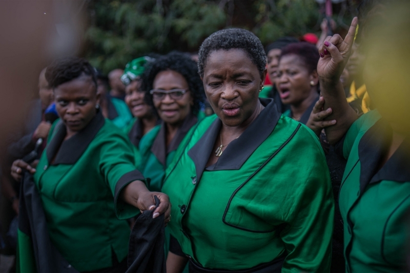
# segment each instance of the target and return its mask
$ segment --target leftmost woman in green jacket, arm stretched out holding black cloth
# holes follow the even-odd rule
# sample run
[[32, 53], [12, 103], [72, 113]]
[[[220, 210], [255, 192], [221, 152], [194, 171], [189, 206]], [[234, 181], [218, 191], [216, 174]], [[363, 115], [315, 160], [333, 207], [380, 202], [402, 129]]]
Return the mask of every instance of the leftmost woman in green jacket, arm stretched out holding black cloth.
[[[46, 77], [60, 120], [50, 130], [36, 170], [19, 160], [12, 174], [18, 179], [22, 169], [34, 173], [50, 239], [71, 266], [125, 271], [130, 236], [125, 219], [155, 204], [154, 195], [162, 199], [154, 217], [165, 213], [169, 199], [148, 191], [135, 169], [132, 144], [99, 111], [95, 74], [86, 60], [58, 60]], [[19, 233], [18, 244], [19, 257], [27, 258], [20, 259], [20, 271], [32, 272], [30, 238]]]

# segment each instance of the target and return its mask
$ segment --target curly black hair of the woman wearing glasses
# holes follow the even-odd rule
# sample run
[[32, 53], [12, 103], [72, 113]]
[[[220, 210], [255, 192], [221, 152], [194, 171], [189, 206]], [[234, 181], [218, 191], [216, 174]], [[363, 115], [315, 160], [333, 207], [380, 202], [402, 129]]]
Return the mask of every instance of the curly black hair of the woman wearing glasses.
[[[197, 73], [196, 62], [187, 54], [173, 51], [157, 58], [141, 75], [141, 90], [152, 90], [155, 76], [166, 70], [178, 72], [187, 80], [194, 102], [191, 111], [194, 115], [197, 115], [201, 109], [201, 103], [204, 101], [205, 92], [203, 91], [202, 80]], [[149, 105], [154, 106], [150, 92], [146, 92], [145, 100]]]

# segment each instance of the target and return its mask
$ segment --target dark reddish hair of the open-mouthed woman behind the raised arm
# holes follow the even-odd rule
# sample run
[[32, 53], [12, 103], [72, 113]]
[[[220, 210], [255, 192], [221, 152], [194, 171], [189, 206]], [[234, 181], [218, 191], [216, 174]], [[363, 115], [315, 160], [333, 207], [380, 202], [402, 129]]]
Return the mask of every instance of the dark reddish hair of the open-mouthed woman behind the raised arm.
[[282, 49], [280, 58], [286, 55], [297, 55], [304, 62], [306, 68], [310, 73], [317, 69], [317, 62], [319, 61], [319, 52], [317, 48], [305, 41], [300, 43], [290, 44]]

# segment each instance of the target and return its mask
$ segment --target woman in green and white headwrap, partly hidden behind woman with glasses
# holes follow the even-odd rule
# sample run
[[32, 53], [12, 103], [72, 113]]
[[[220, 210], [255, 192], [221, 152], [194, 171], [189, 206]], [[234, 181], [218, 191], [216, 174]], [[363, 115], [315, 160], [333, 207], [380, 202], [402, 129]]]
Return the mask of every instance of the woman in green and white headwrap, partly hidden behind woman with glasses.
[[121, 76], [121, 81], [125, 85], [125, 102], [134, 116], [125, 132], [134, 144], [137, 166], [141, 163], [138, 150], [139, 141], [160, 121], [153, 107], [148, 105], [144, 99], [147, 92], [141, 89], [141, 75], [153, 61], [155, 59], [148, 56], [133, 59], [126, 65], [124, 74]]

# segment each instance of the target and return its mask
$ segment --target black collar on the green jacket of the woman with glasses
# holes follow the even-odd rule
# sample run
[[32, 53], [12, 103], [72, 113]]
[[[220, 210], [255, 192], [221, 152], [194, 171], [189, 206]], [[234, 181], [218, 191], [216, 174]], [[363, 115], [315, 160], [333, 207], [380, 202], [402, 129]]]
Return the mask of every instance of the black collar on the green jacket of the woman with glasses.
[[172, 151], [178, 149], [179, 144], [182, 139], [187, 135], [188, 131], [195, 125], [198, 121], [198, 118], [190, 113], [182, 122], [181, 127], [176, 132], [174, 138], [171, 140], [171, 143], [167, 148], [167, 125], [162, 121], [161, 128], [157, 136], [154, 139], [154, 142], [151, 146], [151, 152], [155, 155], [158, 161], [166, 166], [167, 164], [167, 155]]

